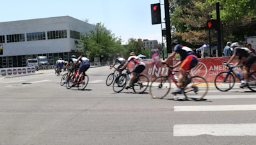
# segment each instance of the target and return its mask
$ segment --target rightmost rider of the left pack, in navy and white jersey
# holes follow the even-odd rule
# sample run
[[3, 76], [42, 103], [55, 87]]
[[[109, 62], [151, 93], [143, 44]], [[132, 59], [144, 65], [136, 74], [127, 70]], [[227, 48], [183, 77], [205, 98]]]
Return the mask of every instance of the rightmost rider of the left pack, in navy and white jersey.
[[79, 78], [81, 72], [85, 73], [90, 68], [90, 60], [84, 57], [84, 55], [80, 55], [80, 57], [78, 57], [76, 63], [74, 64], [73, 69], [75, 69], [79, 61], [81, 61], [81, 67], [79, 68], [79, 72], [76, 76], [76, 81], [74, 82], [74, 85], [76, 85], [77, 79]]

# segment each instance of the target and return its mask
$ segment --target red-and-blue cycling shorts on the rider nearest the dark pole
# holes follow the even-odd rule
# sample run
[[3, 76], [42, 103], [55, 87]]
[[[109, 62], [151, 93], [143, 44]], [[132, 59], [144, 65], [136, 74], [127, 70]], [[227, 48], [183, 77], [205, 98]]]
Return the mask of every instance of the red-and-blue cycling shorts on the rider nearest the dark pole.
[[183, 69], [184, 72], [186, 72], [195, 67], [197, 65], [197, 62], [198, 61], [196, 55], [188, 55], [180, 65], [180, 69]]

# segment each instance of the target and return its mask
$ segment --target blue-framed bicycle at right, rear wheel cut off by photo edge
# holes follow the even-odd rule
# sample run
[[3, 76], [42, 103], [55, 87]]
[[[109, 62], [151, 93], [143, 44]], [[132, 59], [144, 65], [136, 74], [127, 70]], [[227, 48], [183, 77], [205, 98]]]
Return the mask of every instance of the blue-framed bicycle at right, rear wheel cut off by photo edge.
[[[225, 66], [228, 67], [229, 71], [220, 72], [220, 74], [218, 74], [214, 80], [214, 85], [221, 92], [227, 92], [234, 87], [236, 83], [236, 78], [239, 79], [239, 81], [243, 80], [233, 71], [234, 67], [243, 66], [228, 66], [226, 64], [227, 62], [222, 62]], [[256, 71], [253, 71], [248, 75], [248, 88], [253, 92], [256, 92]]]

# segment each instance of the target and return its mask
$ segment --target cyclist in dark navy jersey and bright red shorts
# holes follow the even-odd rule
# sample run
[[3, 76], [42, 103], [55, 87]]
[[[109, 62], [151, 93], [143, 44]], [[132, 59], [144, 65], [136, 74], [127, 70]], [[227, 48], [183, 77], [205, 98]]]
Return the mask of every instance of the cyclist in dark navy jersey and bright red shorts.
[[186, 72], [192, 69], [193, 67], [195, 67], [197, 65], [198, 60], [193, 50], [191, 50], [191, 48], [187, 46], [179, 45], [179, 41], [177, 39], [172, 41], [172, 48], [173, 48], [172, 54], [169, 55], [169, 57], [166, 60], [162, 60], [162, 62], [167, 64], [167, 62], [169, 62], [171, 59], [175, 57], [176, 53], [180, 54], [180, 57], [181, 57], [180, 61], [173, 66], [173, 68], [175, 68], [181, 64], [180, 73], [178, 77], [179, 79], [177, 82], [178, 89], [176, 92], [172, 93], [173, 95], [177, 95], [177, 94], [181, 94], [181, 90], [182, 90], [181, 87], [183, 86], [182, 79], [184, 79]]

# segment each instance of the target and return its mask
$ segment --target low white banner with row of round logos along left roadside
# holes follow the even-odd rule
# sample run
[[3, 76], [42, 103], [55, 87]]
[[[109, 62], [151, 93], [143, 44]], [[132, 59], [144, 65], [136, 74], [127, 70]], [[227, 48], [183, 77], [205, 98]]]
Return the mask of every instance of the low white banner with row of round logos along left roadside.
[[32, 67], [10, 67], [0, 69], [0, 77], [9, 76], [25, 76], [28, 74], [35, 74], [35, 66]]

